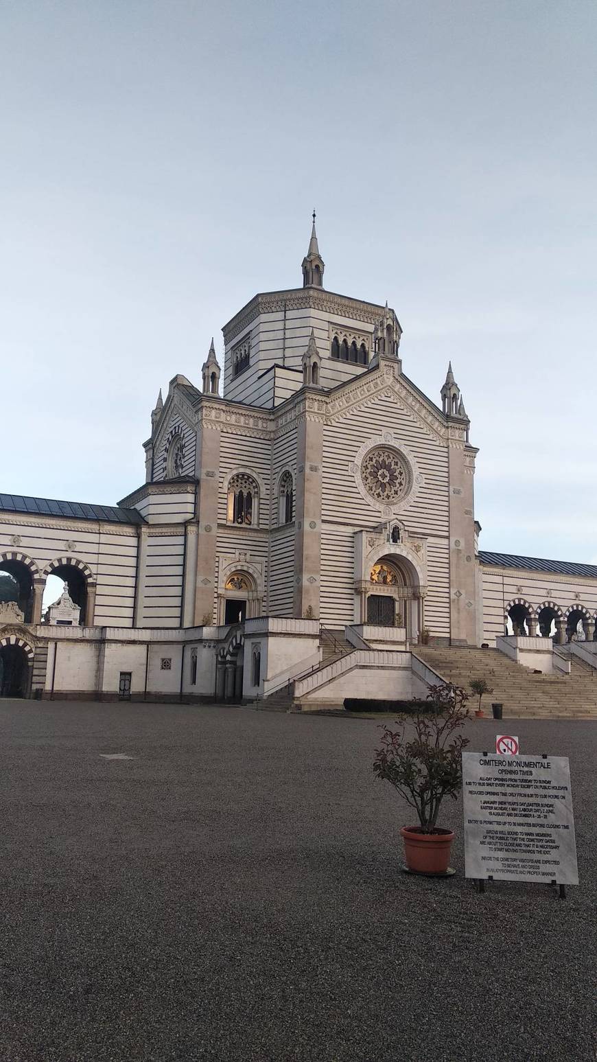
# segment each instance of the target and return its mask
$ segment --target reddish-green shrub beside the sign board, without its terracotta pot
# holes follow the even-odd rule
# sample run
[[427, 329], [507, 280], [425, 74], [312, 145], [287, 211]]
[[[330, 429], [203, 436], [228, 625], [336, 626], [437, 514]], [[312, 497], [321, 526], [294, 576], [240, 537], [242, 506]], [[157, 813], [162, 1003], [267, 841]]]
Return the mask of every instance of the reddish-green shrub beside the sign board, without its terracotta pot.
[[[465, 690], [450, 683], [430, 686], [428, 712], [400, 716], [396, 731], [382, 727], [374, 773], [390, 782], [414, 808], [423, 834], [434, 832], [444, 796], [456, 800], [462, 787], [462, 750], [468, 739], [456, 731], [468, 718], [467, 700]], [[414, 735], [407, 740], [409, 722]]]

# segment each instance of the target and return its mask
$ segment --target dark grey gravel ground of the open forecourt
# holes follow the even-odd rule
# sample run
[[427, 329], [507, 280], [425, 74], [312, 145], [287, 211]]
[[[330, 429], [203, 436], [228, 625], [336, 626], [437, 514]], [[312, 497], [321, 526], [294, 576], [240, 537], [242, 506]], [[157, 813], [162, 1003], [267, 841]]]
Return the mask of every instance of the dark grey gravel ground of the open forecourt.
[[477, 895], [453, 802], [456, 877], [400, 873], [377, 725], [0, 702], [2, 1062], [595, 1062], [597, 724], [516, 722], [570, 757], [565, 903]]

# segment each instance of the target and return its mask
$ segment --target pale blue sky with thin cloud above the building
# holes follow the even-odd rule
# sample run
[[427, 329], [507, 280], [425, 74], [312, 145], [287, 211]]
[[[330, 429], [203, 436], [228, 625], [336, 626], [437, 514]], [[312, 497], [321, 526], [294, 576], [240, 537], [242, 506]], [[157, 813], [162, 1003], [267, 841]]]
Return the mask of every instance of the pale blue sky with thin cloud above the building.
[[0, 0], [1, 489], [113, 503], [256, 291], [394, 306], [481, 546], [597, 563], [597, 6]]

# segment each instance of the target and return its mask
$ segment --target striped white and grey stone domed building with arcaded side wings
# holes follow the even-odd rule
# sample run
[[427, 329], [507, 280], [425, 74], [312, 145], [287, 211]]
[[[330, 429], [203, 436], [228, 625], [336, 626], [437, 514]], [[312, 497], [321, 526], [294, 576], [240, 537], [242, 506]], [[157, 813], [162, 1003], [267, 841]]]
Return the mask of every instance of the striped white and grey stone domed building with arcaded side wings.
[[424, 692], [425, 645], [593, 647], [597, 568], [478, 552], [451, 366], [437, 406], [394, 310], [324, 288], [314, 219], [302, 272], [224, 325], [223, 380], [212, 341], [160, 392], [117, 507], [0, 495], [3, 696], [306, 708]]

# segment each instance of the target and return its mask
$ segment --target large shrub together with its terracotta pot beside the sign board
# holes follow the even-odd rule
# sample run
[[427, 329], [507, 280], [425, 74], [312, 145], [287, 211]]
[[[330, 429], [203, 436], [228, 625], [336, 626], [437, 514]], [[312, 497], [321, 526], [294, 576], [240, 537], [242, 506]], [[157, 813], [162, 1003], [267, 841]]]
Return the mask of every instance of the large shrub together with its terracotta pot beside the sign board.
[[[430, 686], [428, 710], [397, 720], [399, 729], [383, 727], [373, 770], [390, 782], [417, 815], [419, 824], [403, 826], [406, 866], [419, 874], [445, 874], [454, 833], [438, 826], [444, 796], [456, 799], [462, 787], [462, 750], [468, 739], [457, 732], [468, 718], [468, 695], [445, 683]], [[409, 725], [410, 724], [410, 725]]]

